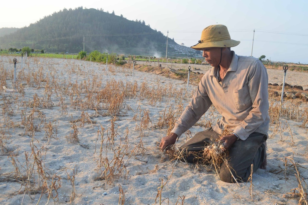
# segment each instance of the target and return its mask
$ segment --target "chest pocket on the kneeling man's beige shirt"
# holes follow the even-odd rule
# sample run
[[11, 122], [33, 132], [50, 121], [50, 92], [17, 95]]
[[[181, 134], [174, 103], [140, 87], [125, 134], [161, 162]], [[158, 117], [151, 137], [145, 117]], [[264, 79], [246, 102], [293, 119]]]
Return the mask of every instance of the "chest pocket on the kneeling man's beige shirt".
[[239, 111], [247, 109], [252, 105], [252, 101], [249, 95], [248, 86], [244, 86], [239, 90], [234, 90], [235, 105]]

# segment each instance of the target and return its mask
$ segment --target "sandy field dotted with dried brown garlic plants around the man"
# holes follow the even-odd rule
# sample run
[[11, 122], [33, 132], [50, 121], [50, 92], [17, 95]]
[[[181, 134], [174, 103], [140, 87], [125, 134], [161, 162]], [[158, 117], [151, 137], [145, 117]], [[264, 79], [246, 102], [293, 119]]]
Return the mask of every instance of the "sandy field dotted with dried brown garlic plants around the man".
[[[308, 203], [303, 102], [281, 107], [270, 96], [267, 170], [228, 184], [214, 167], [174, 160], [156, 145], [196, 86], [186, 92], [182, 80], [72, 59], [28, 57], [21, 69], [17, 58], [16, 92], [0, 91], [0, 204]], [[13, 88], [13, 68], [0, 56], [1, 88]], [[268, 73], [281, 84], [281, 71]], [[306, 89], [306, 74], [286, 82]], [[219, 118], [211, 107], [174, 149]]]

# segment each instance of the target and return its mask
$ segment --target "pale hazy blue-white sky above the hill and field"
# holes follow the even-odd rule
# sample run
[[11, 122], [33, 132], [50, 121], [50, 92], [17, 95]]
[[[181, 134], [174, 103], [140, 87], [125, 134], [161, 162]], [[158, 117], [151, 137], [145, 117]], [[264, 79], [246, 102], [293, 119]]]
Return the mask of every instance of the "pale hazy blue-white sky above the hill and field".
[[308, 64], [308, 1], [272, 0], [115, 0], [115, 1], [42, 1], [3, 0], [0, 28], [25, 27], [63, 8], [103, 8], [123, 14], [128, 20], [144, 20], [176, 43], [192, 46], [201, 31], [212, 24], [224, 24], [231, 38], [241, 43], [234, 47], [238, 55]]

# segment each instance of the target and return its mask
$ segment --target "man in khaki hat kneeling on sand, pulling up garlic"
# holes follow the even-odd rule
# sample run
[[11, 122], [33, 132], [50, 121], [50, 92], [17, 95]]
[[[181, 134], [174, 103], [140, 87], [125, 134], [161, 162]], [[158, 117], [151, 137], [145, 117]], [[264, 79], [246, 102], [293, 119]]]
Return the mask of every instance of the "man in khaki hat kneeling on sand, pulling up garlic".
[[180, 135], [191, 128], [213, 104], [222, 115], [212, 128], [197, 133], [183, 146], [187, 162], [200, 158], [191, 152], [201, 152], [210, 138], [219, 138], [225, 129], [232, 134], [220, 138], [229, 151], [228, 165], [221, 164], [218, 175], [224, 182], [246, 182], [253, 172], [266, 167], [266, 139], [270, 117], [268, 114], [268, 76], [262, 62], [253, 57], [238, 56], [230, 47], [240, 41], [230, 38], [224, 25], [206, 27], [201, 40], [191, 48], [203, 51], [203, 57], [213, 67], [202, 77], [196, 93], [170, 135], [160, 142], [162, 150], [175, 144]]

